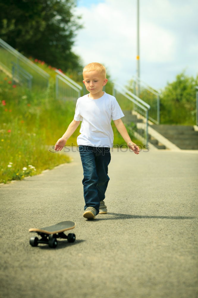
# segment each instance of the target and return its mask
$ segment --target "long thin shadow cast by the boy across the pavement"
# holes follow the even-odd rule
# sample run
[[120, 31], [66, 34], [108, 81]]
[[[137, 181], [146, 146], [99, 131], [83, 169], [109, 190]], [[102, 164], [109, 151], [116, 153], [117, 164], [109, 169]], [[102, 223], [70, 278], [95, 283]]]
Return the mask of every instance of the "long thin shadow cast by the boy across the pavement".
[[95, 220], [104, 221], [104, 220], [114, 220], [114, 219], [137, 219], [137, 218], [159, 218], [159, 219], [193, 219], [192, 216], [155, 216], [155, 215], [130, 215], [130, 214], [120, 214], [120, 213], [110, 213], [104, 214], [105, 216], [114, 215], [114, 217], [105, 217], [105, 218], [96, 218]]

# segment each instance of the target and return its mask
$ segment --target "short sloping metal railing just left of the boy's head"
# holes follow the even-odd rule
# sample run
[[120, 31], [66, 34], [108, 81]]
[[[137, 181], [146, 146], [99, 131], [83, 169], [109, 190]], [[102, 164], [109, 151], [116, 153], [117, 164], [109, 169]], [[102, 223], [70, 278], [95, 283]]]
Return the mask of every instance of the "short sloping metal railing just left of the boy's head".
[[56, 69], [56, 99], [76, 102], [81, 96], [82, 87]]

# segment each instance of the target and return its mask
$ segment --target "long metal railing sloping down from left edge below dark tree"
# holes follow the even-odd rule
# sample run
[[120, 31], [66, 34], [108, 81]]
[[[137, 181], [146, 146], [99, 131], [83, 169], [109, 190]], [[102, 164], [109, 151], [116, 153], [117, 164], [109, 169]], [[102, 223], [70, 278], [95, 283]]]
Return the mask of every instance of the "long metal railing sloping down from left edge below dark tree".
[[[32, 89], [48, 87], [50, 75], [0, 38], [0, 69], [12, 77], [13, 65], [15, 70], [23, 71], [24, 76], [32, 76]], [[18, 77], [18, 83], [24, 83], [24, 76]]]

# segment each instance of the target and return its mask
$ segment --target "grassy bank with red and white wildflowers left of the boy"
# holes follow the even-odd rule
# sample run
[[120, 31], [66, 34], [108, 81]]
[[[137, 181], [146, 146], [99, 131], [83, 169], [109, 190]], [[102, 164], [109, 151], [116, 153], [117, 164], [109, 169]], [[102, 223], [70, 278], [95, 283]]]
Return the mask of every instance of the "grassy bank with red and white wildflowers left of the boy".
[[70, 161], [64, 154], [48, 151], [65, 132], [74, 109], [73, 104], [55, 101], [53, 95], [52, 90], [36, 94], [12, 85], [0, 72], [0, 183]]

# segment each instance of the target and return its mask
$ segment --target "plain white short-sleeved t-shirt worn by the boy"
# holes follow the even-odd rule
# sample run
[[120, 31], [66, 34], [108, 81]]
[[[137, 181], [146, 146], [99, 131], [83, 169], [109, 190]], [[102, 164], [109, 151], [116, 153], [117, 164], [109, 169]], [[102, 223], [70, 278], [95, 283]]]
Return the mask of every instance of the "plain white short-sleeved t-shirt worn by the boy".
[[98, 99], [91, 99], [88, 94], [79, 97], [76, 103], [74, 120], [82, 121], [78, 145], [93, 147], [113, 147], [111, 119], [124, 117], [114, 96], [104, 92]]

